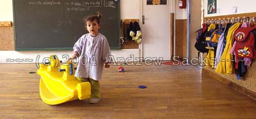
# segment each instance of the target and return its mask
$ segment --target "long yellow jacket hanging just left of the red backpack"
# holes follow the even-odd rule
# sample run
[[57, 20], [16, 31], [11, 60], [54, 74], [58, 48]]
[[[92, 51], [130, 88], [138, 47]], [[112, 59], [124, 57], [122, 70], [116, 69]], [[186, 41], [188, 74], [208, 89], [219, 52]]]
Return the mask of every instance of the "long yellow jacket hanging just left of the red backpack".
[[221, 74], [232, 74], [233, 73], [233, 55], [230, 54], [232, 49], [232, 45], [234, 42], [234, 32], [241, 26], [241, 23], [237, 22], [236, 24], [232, 25], [228, 30], [227, 34], [227, 44], [225, 46], [225, 50], [221, 55], [221, 59], [219, 64], [217, 65], [215, 71]]

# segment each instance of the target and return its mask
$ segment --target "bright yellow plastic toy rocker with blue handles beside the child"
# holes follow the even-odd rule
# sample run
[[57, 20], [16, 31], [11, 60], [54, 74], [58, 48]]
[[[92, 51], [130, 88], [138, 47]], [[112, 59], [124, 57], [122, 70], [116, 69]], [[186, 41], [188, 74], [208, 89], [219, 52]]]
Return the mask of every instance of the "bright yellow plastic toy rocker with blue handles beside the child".
[[90, 98], [91, 85], [89, 82], [76, 79], [73, 62], [68, 61], [61, 65], [56, 55], [51, 55], [49, 60], [49, 64], [40, 64], [37, 71], [37, 74], [41, 76], [40, 97], [42, 101], [56, 105], [76, 99]]

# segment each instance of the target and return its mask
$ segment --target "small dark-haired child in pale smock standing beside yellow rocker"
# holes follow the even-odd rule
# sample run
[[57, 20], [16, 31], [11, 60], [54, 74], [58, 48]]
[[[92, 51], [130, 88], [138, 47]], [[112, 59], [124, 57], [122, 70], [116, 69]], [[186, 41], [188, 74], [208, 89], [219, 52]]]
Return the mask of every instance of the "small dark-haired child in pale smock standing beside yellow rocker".
[[99, 80], [103, 67], [109, 67], [109, 55], [111, 55], [108, 40], [99, 33], [101, 16], [92, 15], [84, 18], [84, 24], [89, 32], [84, 34], [75, 43], [73, 56], [70, 60], [77, 59], [76, 78], [80, 81], [91, 83], [90, 103], [100, 101]]

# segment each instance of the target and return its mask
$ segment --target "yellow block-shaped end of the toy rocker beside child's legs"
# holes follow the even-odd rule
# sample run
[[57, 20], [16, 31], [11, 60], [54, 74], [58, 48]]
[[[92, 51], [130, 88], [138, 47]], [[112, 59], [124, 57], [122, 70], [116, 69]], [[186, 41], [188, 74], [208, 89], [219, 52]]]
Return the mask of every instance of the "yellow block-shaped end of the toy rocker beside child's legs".
[[91, 85], [89, 82], [78, 83], [76, 85], [79, 100], [88, 99], [91, 96]]

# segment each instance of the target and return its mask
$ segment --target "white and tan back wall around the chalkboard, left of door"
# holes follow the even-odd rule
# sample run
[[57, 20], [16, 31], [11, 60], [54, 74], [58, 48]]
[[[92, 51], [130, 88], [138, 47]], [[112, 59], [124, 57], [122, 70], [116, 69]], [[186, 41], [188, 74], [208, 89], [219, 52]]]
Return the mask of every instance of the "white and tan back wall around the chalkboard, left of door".
[[[121, 19], [123, 18], [134, 18], [140, 19], [140, 4], [141, 1], [138, 0], [129, 0], [121, 1]], [[12, 0], [0, 0], [0, 21], [12, 21], [13, 22], [13, 4]], [[15, 63], [7, 62], [7, 59], [33, 59], [33, 62], [36, 61], [36, 56], [40, 55], [41, 57], [49, 57], [50, 54], [57, 54], [59, 58], [62, 55], [72, 55], [71, 51], [40, 51], [40, 52], [16, 52], [14, 51], [14, 32], [13, 27], [0, 27], [0, 63]], [[129, 49], [129, 50], [111, 50], [113, 55], [116, 57], [124, 57], [125, 59], [129, 58], [130, 55], [134, 57], [140, 57], [139, 49]], [[36, 55], [35, 55], [36, 54]], [[65, 59], [60, 59], [65, 60]], [[18, 62], [20, 63], [20, 62]], [[28, 63], [28, 62], [25, 62]]]

